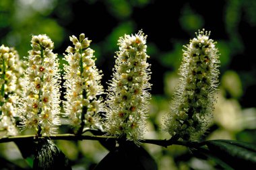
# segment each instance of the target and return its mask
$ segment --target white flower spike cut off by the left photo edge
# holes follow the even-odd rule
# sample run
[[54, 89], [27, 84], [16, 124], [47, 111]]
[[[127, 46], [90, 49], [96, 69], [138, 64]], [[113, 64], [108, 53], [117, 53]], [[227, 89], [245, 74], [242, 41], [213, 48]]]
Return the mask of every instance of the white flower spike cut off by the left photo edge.
[[2, 45], [0, 47], [0, 130], [4, 130], [7, 136], [18, 134], [15, 117], [18, 112], [17, 92], [20, 90], [19, 78], [22, 71], [18, 52]]

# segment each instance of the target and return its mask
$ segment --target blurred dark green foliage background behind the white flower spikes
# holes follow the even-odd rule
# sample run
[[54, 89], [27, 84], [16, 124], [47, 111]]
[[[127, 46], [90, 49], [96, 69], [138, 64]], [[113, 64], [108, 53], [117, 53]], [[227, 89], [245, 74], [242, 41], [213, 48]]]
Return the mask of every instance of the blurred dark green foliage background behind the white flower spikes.
[[[153, 1], [153, 0], [0, 0], [0, 44], [15, 46], [28, 55], [32, 35], [47, 34], [59, 58], [69, 36], [86, 34], [103, 71], [102, 84], [112, 75], [117, 40], [143, 29], [148, 35], [148, 62], [152, 64], [152, 101], [145, 138], [168, 138], [160, 132], [168, 112], [181, 63], [183, 45], [198, 29], [212, 32], [220, 50], [220, 90], [209, 139], [232, 139], [256, 144], [256, 1]], [[61, 128], [60, 133], [66, 133]], [[108, 151], [96, 141], [55, 141], [71, 160], [73, 169], [92, 169]], [[216, 169], [214, 162], [191, 157], [183, 146], [162, 148], [143, 144], [158, 169]], [[14, 165], [13, 165], [14, 163]], [[0, 144], [0, 169], [28, 168], [13, 143]], [[3, 169], [3, 168], [2, 168]]]

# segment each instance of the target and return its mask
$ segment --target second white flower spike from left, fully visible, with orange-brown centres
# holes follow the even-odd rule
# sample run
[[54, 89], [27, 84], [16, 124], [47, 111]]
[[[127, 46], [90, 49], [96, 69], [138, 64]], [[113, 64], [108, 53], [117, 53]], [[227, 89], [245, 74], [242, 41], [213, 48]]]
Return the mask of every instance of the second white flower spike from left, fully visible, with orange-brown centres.
[[60, 121], [59, 62], [46, 35], [32, 36], [19, 112], [23, 128], [53, 134]]

